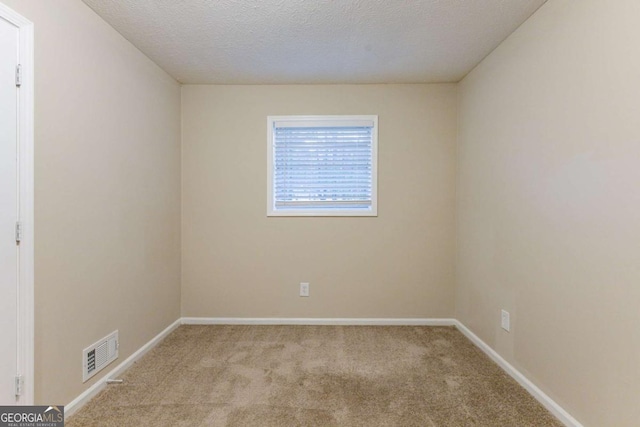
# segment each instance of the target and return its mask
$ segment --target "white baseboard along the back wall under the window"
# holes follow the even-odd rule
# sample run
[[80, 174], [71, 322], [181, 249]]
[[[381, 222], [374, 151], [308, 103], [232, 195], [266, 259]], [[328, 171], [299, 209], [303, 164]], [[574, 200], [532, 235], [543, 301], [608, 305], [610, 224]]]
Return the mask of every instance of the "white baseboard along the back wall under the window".
[[455, 319], [378, 318], [281, 318], [281, 317], [183, 317], [183, 325], [371, 325], [371, 326], [455, 326]]

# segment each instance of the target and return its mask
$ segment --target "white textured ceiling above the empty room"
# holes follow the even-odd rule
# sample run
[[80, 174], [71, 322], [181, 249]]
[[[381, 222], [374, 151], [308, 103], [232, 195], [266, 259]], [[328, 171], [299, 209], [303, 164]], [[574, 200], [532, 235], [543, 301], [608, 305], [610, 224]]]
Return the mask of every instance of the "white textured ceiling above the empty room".
[[456, 82], [546, 0], [83, 0], [182, 83]]

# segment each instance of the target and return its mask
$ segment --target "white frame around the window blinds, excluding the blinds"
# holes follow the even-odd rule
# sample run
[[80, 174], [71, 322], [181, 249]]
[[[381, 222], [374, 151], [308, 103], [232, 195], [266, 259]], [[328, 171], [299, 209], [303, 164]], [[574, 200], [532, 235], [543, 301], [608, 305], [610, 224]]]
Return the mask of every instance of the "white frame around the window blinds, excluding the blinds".
[[[274, 144], [273, 133], [276, 122], [344, 122], [345, 126], [354, 121], [373, 122], [371, 141], [371, 207], [369, 209], [284, 209], [275, 208], [274, 200]], [[267, 216], [378, 216], [378, 116], [268, 116], [267, 117]]]

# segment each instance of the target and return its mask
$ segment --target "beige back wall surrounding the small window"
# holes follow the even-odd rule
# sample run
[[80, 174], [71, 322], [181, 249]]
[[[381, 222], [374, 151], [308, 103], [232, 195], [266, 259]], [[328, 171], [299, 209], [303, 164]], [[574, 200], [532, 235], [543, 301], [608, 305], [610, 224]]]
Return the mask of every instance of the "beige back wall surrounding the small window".
[[[182, 109], [184, 316], [453, 315], [455, 85], [184, 86]], [[377, 218], [267, 218], [267, 116], [295, 114], [379, 116]]]

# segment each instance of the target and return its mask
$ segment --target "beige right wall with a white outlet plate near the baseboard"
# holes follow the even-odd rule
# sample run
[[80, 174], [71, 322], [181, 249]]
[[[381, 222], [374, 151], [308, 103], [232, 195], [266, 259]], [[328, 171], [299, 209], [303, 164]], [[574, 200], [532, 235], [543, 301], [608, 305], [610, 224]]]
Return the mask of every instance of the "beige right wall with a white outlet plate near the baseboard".
[[588, 426], [640, 420], [638, 16], [551, 0], [460, 85], [456, 315]]

